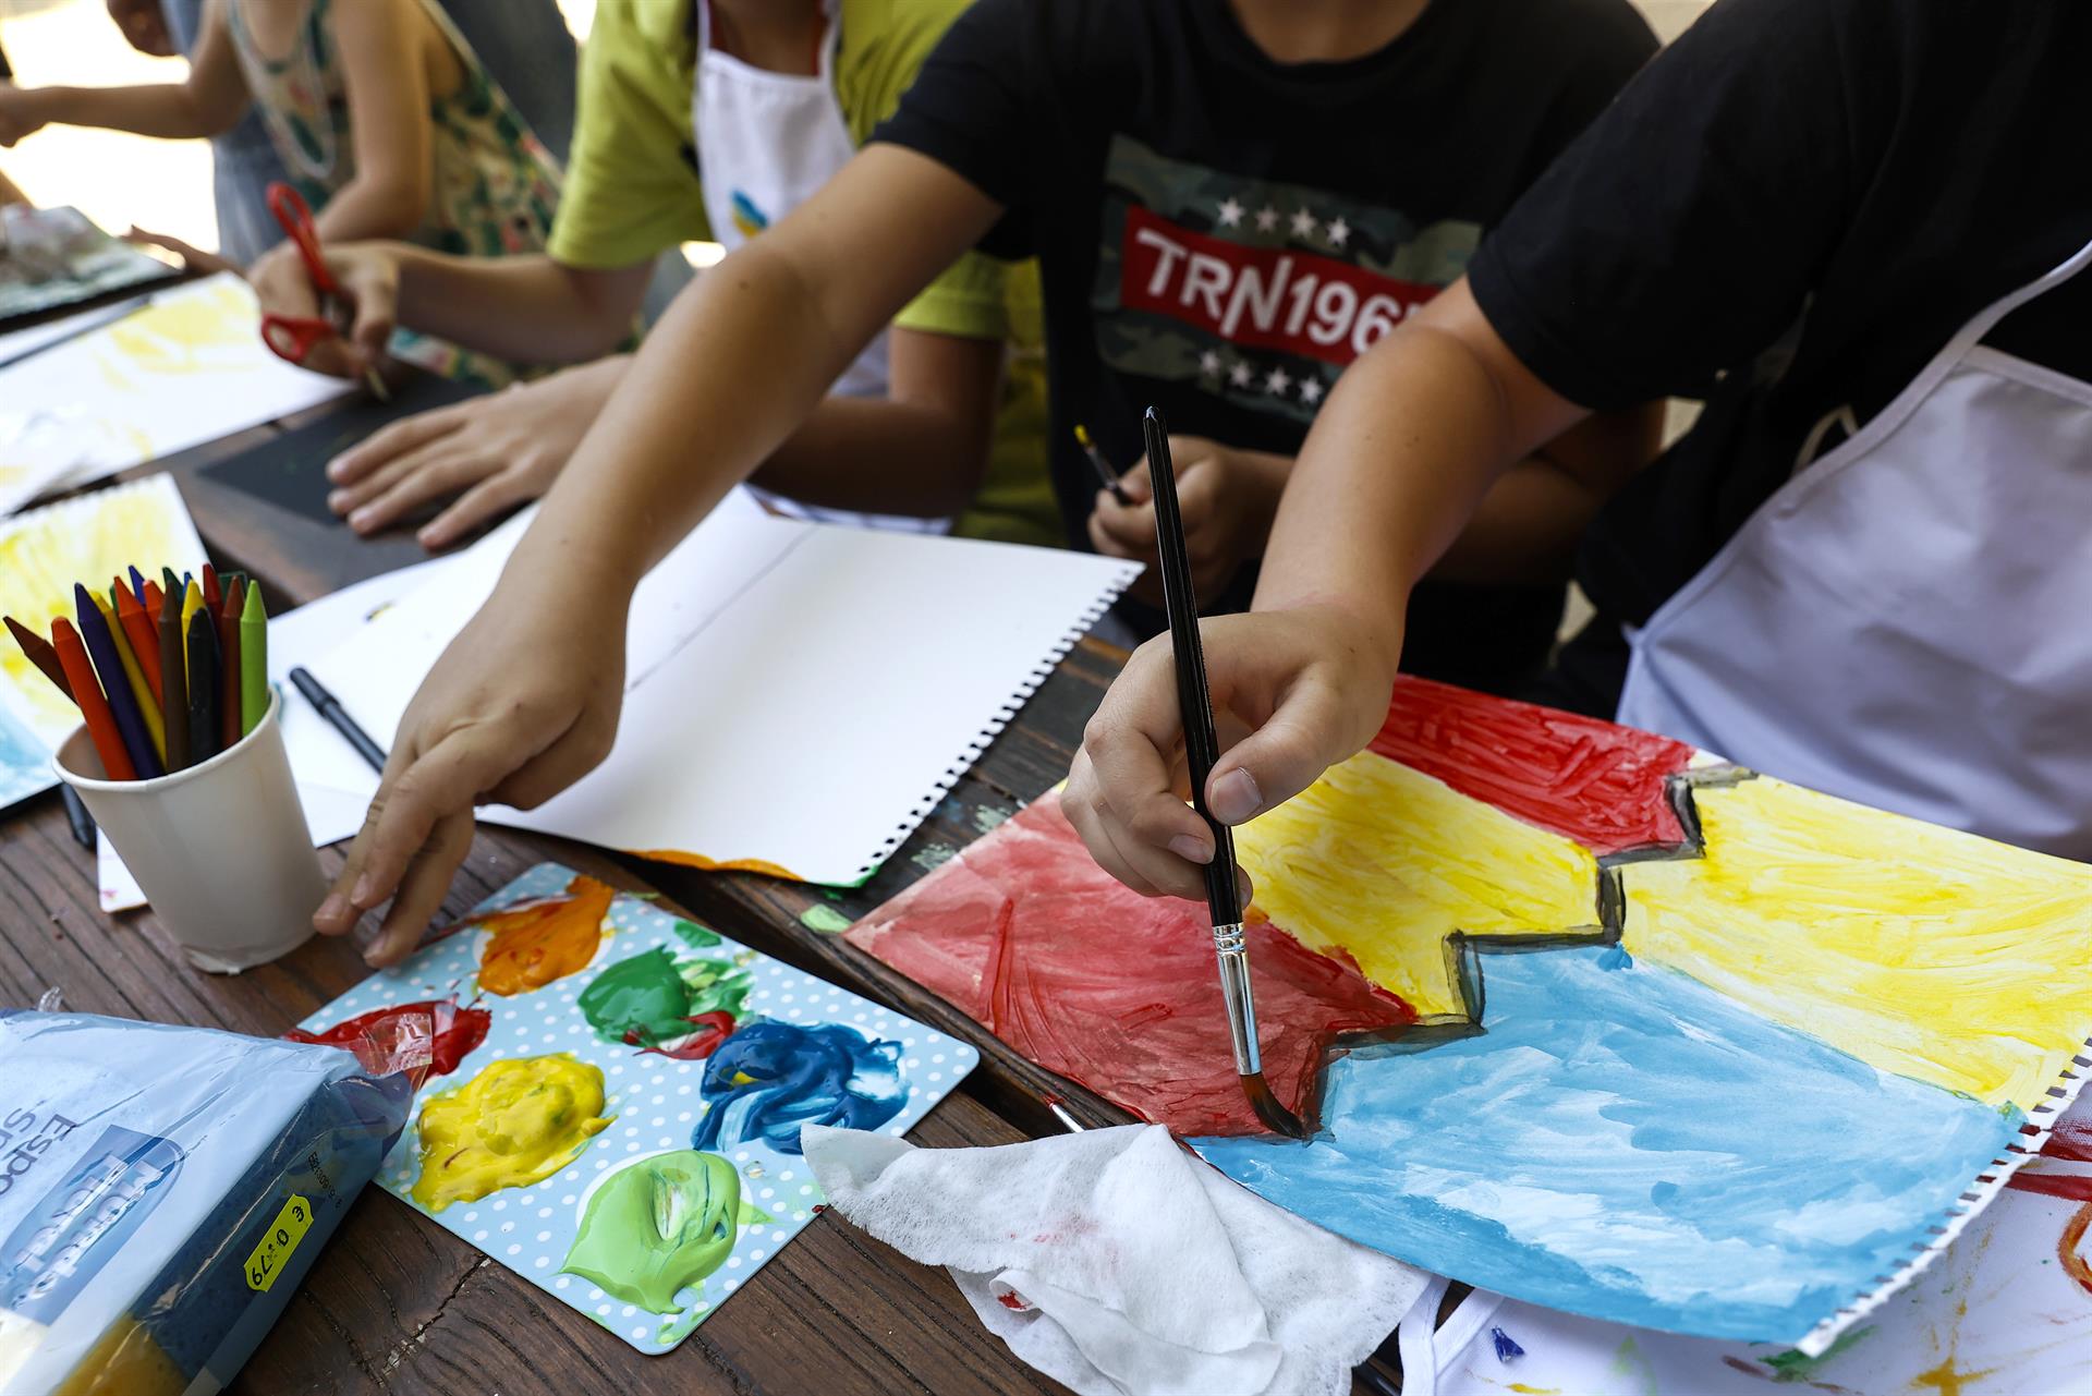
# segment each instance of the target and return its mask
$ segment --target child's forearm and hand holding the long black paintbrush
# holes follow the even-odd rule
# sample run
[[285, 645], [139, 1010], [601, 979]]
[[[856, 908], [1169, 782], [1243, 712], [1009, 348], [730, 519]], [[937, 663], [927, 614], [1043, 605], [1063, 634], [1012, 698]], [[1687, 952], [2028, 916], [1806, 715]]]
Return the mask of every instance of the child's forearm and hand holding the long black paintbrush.
[[[1230, 825], [1291, 800], [1387, 716], [1410, 588], [1515, 463], [1584, 421], [1496, 335], [1466, 283], [1345, 370], [1278, 506], [1255, 609], [1201, 624], [1213, 707], [1247, 735], [1213, 766]], [[1180, 787], [1169, 636], [1134, 651], [1084, 730], [1061, 806], [1107, 873], [1205, 894], [1213, 837]]]

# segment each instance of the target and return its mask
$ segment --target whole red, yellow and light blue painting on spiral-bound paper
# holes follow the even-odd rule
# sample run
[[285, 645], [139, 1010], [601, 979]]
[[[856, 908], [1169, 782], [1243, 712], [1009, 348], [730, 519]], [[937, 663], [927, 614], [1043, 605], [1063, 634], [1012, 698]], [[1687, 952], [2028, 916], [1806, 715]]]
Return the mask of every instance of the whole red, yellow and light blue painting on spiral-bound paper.
[[1814, 1352], [2040, 1149], [2092, 1034], [2092, 869], [1420, 680], [1236, 848], [1308, 1143], [1241, 1099], [1203, 908], [1052, 797], [849, 938], [1351, 1239]]

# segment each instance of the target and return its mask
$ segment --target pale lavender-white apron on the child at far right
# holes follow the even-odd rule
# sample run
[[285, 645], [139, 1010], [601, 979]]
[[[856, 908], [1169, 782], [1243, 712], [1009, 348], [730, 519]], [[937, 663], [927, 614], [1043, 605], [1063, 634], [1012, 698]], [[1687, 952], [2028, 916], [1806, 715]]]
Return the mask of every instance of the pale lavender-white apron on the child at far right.
[[2092, 858], [2092, 383], [1969, 320], [1640, 632], [1619, 720], [1862, 804]]

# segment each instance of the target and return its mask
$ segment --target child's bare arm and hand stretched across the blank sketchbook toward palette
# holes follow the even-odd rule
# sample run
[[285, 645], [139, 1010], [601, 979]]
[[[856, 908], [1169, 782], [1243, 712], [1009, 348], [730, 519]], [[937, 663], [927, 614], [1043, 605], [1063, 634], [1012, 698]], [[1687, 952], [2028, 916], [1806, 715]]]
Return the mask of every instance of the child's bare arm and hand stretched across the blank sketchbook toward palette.
[[471, 846], [473, 804], [538, 806], [609, 753], [640, 578], [998, 213], [937, 161], [874, 142], [676, 299], [408, 705], [320, 931], [391, 900], [368, 959], [397, 961]]

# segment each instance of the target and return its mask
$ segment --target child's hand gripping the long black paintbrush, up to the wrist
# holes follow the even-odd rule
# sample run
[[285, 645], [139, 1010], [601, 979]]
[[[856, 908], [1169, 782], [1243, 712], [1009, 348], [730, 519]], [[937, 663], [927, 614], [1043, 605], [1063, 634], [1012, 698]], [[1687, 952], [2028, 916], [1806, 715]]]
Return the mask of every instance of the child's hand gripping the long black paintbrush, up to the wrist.
[[[1400, 636], [1331, 605], [1199, 622], [1228, 751], [1207, 808], [1241, 825], [1308, 789], [1381, 730]], [[1236, 741], [1230, 741], [1236, 737]], [[1082, 735], [1061, 808], [1098, 866], [1142, 896], [1205, 896], [1213, 835], [1186, 800], [1169, 636], [1128, 661]]]

